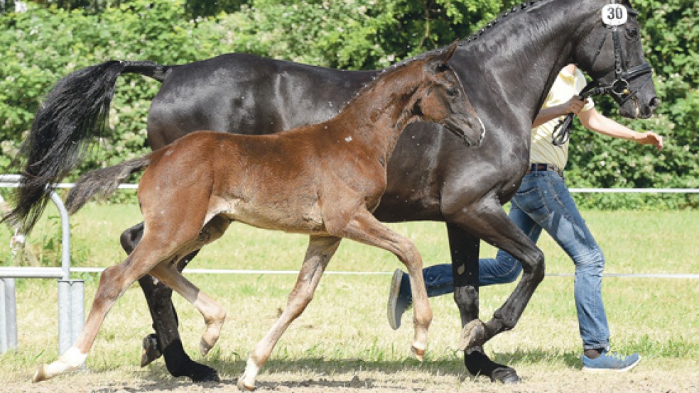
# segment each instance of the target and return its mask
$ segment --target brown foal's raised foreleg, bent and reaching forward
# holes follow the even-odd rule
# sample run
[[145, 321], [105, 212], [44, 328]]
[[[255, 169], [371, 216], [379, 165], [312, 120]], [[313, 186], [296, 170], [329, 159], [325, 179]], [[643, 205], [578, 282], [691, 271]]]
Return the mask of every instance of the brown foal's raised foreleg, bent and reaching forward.
[[413, 242], [391, 231], [369, 211], [357, 211], [345, 228], [342, 237], [387, 250], [406, 265], [413, 294], [415, 336], [412, 349], [418, 360], [423, 360], [427, 349], [427, 331], [432, 322], [432, 309], [423, 279], [423, 260]]

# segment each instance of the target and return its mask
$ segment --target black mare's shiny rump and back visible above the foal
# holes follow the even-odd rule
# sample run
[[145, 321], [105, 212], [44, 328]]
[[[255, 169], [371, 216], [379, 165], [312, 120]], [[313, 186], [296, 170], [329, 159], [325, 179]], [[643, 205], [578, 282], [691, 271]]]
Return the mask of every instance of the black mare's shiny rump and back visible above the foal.
[[259, 134], [320, 123], [376, 73], [246, 53], [173, 66], [151, 104], [148, 141], [160, 148], [201, 129]]

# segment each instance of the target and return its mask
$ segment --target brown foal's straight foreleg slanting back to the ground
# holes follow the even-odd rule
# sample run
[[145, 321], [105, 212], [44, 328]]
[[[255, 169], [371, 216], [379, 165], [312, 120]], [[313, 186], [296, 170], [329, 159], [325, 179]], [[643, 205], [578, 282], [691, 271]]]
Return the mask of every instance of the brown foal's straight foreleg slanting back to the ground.
[[320, 277], [325, 272], [327, 262], [330, 261], [330, 258], [337, 250], [337, 246], [340, 245], [340, 240], [342, 239], [328, 236], [310, 236], [308, 250], [306, 250], [303, 265], [298, 274], [298, 279], [296, 279], [296, 285], [293, 287], [291, 294], [289, 294], [286, 309], [284, 309], [279, 319], [250, 353], [245, 372], [238, 380], [239, 389], [251, 390], [255, 388], [255, 378], [262, 365], [269, 359], [274, 345], [279, 341], [279, 338], [281, 338], [288, 326], [291, 325], [291, 322], [303, 313], [305, 307], [313, 299], [313, 293], [316, 287], [318, 287]]

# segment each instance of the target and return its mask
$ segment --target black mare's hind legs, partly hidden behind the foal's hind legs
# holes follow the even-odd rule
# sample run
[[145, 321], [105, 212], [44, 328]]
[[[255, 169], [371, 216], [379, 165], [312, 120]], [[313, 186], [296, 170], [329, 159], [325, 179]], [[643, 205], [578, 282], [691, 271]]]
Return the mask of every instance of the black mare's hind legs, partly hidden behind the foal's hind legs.
[[[143, 235], [143, 223], [133, 226], [121, 234], [121, 247], [127, 254], [136, 248]], [[180, 272], [199, 251], [195, 251], [178, 261]], [[153, 277], [146, 275], [139, 279], [143, 294], [146, 296], [148, 309], [153, 319], [155, 334], [143, 338], [143, 357], [141, 367], [156, 360], [161, 355], [166, 367], [173, 377], [189, 377], [194, 382], [219, 382], [216, 370], [192, 360], [182, 346], [178, 331], [178, 319], [172, 303], [172, 289], [166, 287]]]

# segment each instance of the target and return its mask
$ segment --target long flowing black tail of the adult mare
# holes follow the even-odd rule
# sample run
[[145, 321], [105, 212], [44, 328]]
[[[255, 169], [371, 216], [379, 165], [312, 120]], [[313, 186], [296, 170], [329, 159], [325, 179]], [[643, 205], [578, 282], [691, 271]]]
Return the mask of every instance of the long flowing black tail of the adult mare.
[[163, 82], [169, 70], [154, 62], [109, 61], [61, 79], [36, 111], [31, 133], [13, 162], [12, 167], [23, 166], [23, 178], [15, 208], [4, 220], [31, 231], [48, 202], [47, 188], [75, 168], [90, 140], [103, 134], [120, 74], [134, 72]]

